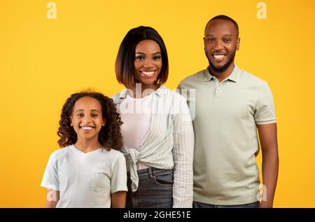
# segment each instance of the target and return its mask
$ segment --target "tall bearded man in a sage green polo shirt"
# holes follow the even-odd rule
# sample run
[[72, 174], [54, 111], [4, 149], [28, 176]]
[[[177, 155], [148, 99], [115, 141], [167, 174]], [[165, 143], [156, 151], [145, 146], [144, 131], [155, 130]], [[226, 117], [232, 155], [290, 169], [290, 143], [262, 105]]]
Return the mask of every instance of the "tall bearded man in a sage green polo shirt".
[[235, 64], [239, 43], [235, 20], [225, 15], [209, 20], [204, 31], [209, 67], [179, 84], [179, 90], [195, 89], [195, 100], [188, 97], [195, 106], [193, 207], [272, 207], [279, 167], [274, 102], [265, 81]]

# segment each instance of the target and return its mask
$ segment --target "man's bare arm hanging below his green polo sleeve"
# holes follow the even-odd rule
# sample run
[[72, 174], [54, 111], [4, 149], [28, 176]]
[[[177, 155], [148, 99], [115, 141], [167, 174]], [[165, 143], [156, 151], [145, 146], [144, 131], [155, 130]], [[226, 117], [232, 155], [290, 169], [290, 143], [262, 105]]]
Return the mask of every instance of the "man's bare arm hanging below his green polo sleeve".
[[262, 184], [266, 188], [263, 192], [267, 194], [267, 199], [262, 200], [260, 207], [272, 207], [279, 170], [276, 123], [257, 125], [257, 127], [262, 150]]

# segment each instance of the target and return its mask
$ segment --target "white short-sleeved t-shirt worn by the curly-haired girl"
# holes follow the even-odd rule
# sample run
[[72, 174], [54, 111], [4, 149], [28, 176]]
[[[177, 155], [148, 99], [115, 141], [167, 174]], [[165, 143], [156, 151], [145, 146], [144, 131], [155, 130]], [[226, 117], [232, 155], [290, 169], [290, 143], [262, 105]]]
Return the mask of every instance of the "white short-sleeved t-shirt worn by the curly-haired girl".
[[111, 193], [127, 190], [125, 157], [99, 148], [67, 146], [50, 155], [41, 186], [59, 190], [57, 207], [111, 207]]

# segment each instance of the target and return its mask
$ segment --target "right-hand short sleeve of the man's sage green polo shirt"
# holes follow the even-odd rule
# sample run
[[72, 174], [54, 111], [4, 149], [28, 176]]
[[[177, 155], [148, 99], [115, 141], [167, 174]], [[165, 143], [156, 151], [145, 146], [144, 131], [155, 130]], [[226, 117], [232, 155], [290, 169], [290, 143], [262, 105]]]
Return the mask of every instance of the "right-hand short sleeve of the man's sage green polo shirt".
[[272, 92], [266, 82], [263, 82], [258, 89], [258, 101], [255, 106], [255, 123], [258, 125], [276, 123], [274, 111], [274, 99]]

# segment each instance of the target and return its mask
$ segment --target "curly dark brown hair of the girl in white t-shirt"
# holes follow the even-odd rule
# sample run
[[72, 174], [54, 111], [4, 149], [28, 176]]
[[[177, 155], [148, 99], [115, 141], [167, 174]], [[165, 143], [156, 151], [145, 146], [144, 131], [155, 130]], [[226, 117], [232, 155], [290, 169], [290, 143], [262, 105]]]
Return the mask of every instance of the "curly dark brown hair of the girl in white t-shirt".
[[99, 92], [78, 92], [74, 93], [66, 99], [66, 103], [62, 106], [61, 118], [59, 120], [58, 136], [61, 137], [58, 140], [60, 147], [70, 146], [76, 143], [78, 137], [71, 124], [71, 116], [73, 112], [73, 106], [78, 99], [82, 97], [92, 97], [97, 99], [102, 106], [102, 117], [106, 120], [105, 126], [102, 126], [99, 131], [99, 143], [110, 151], [111, 148], [120, 150], [123, 146], [123, 137], [120, 132], [120, 125], [123, 122], [120, 119], [120, 115], [116, 110], [116, 106], [113, 103], [113, 99], [104, 96]]

